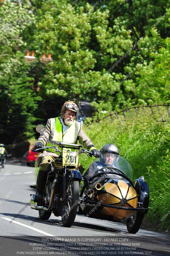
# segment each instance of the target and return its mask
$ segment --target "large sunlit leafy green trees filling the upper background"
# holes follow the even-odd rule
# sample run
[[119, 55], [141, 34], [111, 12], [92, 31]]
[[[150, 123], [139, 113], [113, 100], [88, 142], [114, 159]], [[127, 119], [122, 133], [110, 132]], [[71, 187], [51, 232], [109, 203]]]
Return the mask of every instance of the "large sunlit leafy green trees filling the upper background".
[[[23, 87], [28, 88], [26, 94], [32, 88], [42, 98], [38, 108], [34, 100], [32, 113], [43, 123], [59, 115], [68, 99], [90, 100], [96, 114], [136, 104], [168, 103], [169, 5], [169, 0], [4, 0], [1, 92], [21, 76], [21, 70], [27, 71], [23, 56], [29, 49], [38, 61], [44, 53], [51, 53], [53, 59], [37, 64], [24, 78], [32, 83]], [[11, 65], [16, 59], [20, 65]], [[2, 106], [4, 100], [14, 104], [14, 98], [6, 97], [1, 95]]]

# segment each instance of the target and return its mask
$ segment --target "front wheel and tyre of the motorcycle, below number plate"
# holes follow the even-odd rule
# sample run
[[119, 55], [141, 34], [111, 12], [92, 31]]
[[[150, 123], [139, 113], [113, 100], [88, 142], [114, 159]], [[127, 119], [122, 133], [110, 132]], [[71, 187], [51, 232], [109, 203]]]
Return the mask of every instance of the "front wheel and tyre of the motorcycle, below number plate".
[[72, 180], [66, 195], [66, 201], [62, 204], [61, 220], [64, 226], [71, 227], [74, 223], [79, 204], [79, 181]]

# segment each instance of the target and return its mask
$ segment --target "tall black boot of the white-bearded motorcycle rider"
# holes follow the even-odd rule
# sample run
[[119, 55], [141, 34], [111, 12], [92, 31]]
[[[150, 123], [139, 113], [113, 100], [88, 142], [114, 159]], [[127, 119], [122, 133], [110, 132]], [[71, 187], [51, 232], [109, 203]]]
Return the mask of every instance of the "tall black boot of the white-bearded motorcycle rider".
[[45, 184], [47, 182], [47, 177], [48, 177], [48, 172], [45, 172], [45, 171], [38, 172], [37, 189], [34, 196], [35, 202], [37, 200], [43, 199], [43, 191], [44, 191]]

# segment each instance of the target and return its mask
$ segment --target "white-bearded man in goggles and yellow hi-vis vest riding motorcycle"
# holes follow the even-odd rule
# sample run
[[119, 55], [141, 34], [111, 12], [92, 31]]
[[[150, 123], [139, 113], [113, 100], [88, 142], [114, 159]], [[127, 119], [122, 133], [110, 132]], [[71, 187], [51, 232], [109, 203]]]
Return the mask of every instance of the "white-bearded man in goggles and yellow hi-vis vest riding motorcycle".
[[[102, 156], [100, 151], [95, 148], [92, 141], [82, 130], [82, 124], [75, 121], [78, 113], [78, 106], [75, 101], [66, 101], [61, 109], [61, 116], [56, 118], [50, 118], [47, 120], [46, 127], [44, 129], [45, 136], [49, 139], [51, 144], [59, 147], [56, 141], [63, 141], [67, 143], [77, 143], [77, 140], [83, 147], [89, 149], [93, 156]], [[35, 149], [43, 148], [45, 146], [51, 146], [47, 141], [43, 133], [40, 134], [38, 141], [35, 143]], [[60, 150], [62, 150], [60, 148]], [[35, 200], [41, 200], [44, 190], [44, 186], [47, 181], [48, 172], [50, 171], [50, 162], [53, 162], [60, 155], [53, 148], [45, 149], [43, 153], [40, 153], [37, 158], [37, 166], [40, 167], [38, 173], [37, 189], [35, 193]], [[84, 170], [81, 164], [79, 164], [79, 170]]]

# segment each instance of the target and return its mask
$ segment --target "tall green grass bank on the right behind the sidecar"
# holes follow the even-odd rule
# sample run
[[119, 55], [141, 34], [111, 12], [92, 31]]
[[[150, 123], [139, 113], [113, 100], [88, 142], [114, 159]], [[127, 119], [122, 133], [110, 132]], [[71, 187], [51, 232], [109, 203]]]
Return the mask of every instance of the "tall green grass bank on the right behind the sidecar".
[[[144, 176], [150, 188], [147, 219], [160, 230], [170, 227], [170, 214], [167, 216], [170, 210], [170, 118], [166, 110], [163, 116], [166, 122], [158, 115], [153, 117], [148, 109], [138, 111], [137, 115], [128, 113], [126, 119], [119, 116], [105, 128], [110, 117], [84, 124], [83, 128], [89, 138], [95, 137], [93, 144], [98, 149], [107, 143], [119, 148], [120, 155], [132, 166], [133, 180]], [[103, 132], [100, 132], [102, 127]], [[94, 157], [89, 159], [82, 154], [79, 161], [87, 170]]]

